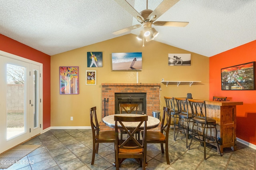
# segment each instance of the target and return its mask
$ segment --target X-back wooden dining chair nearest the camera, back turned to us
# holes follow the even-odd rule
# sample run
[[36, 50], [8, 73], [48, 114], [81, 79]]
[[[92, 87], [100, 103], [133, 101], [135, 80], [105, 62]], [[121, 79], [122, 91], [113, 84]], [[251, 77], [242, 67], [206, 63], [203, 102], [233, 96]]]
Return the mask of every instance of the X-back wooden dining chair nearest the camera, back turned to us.
[[[140, 159], [140, 167], [146, 169], [146, 134], [147, 134], [147, 115], [138, 115], [136, 117], [123, 117], [122, 115], [115, 115], [115, 132], [116, 132], [116, 170], [119, 170], [120, 164], [124, 158]], [[124, 124], [127, 122], [137, 122], [138, 125], [135, 129], [129, 129]], [[142, 140], [134, 138], [134, 134], [138, 132], [140, 126], [143, 125], [144, 134]], [[118, 124], [121, 126], [118, 127]], [[118, 129], [124, 129], [128, 134], [125, 140], [119, 139]]]

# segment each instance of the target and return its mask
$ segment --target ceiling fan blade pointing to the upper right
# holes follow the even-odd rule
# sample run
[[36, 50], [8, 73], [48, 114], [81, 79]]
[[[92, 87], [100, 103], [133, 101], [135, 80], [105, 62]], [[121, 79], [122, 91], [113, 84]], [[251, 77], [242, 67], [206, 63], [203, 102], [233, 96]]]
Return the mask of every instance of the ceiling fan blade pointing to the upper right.
[[[148, 18], [153, 18], [152, 20], [155, 21], [157, 18], [159, 18], [164, 12], [169, 10], [172, 6], [174, 6], [177, 2], [180, 0], [163, 0], [158, 7], [148, 16]], [[156, 16], [156, 17], [154, 17]]]

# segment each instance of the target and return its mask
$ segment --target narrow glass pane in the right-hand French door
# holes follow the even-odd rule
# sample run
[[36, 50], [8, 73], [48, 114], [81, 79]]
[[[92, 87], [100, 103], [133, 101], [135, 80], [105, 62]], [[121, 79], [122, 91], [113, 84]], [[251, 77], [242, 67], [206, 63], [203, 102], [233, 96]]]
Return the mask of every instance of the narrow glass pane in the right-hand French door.
[[34, 128], [38, 127], [38, 71], [34, 70]]

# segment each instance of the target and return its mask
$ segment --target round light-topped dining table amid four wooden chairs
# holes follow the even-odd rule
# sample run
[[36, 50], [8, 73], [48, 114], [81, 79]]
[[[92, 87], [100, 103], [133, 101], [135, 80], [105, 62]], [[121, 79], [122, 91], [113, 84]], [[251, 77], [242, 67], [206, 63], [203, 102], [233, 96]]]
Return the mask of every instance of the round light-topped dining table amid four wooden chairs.
[[[126, 114], [126, 113], [122, 113], [122, 114], [115, 114], [117, 116], [123, 116], [123, 117], [136, 117], [136, 116], [144, 116], [144, 115], [140, 115], [140, 114]], [[102, 121], [109, 127], [115, 127], [115, 121], [114, 121], [114, 116], [115, 115], [108, 115], [106, 117], [104, 117], [102, 119]], [[147, 121], [147, 129], [152, 129], [152, 128], [156, 128], [158, 127], [160, 123], [160, 120], [152, 117], [152, 116], [148, 116], [148, 121]], [[134, 129], [138, 126], [139, 122], [124, 122], [124, 125], [127, 129]], [[118, 127], [122, 127], [119, 123], [118, 123]], [[140, 130], [143, 130], [144, 127], [144, 123], [140, 126]]]

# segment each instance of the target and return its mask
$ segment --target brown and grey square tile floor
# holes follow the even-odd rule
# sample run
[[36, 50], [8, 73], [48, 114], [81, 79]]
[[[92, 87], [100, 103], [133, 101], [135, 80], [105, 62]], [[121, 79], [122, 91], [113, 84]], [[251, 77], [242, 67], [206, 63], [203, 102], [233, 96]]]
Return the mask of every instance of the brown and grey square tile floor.
[[[22, 158], [34, 164], [13, 164], [8, 170], [114, 170], [114, 144], [100, 144], [94, 165], [92, 159], [92, 130], [90, 129], [52, 129], [24, 143], [41, 144], [39, 148]], [[179, 134], [173, 140], [170, 130], [169, 157], [166, 164], [165, 153], [159, 144], [148, 144], [147, 170], [256, 170], [256, 150], [237, 142], [237, 150], [225, 148], [223, 156], [216, 152], [216, 147], [207, 148], [207, 160], [204, 160], [200, 142], [193, 142], [190, 150], [186, 149], [186, 138]], [[120, 170], [140, 170], [134, 159], [126, 159]], [[5, 169], [0, 169], [5, 170]]]

